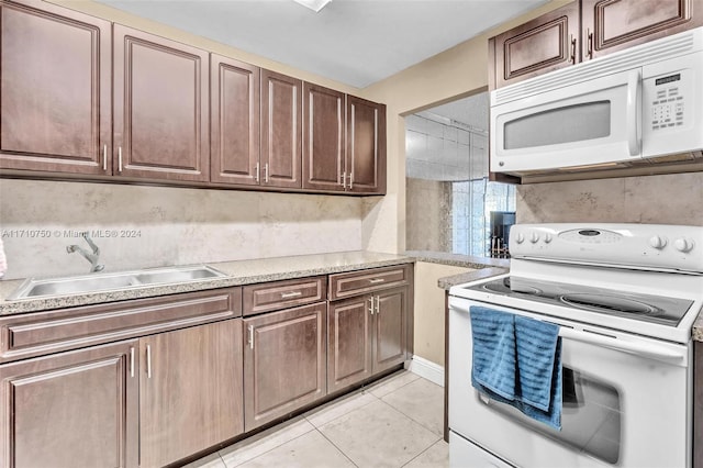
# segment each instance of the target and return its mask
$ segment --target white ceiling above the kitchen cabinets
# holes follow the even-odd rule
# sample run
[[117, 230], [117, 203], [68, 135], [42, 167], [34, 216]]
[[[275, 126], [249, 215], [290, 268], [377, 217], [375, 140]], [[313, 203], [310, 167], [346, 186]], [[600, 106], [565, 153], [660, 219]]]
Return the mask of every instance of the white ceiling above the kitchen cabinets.
[[97, 0], [365, 88], [548, 0]]

